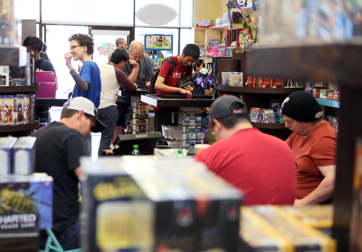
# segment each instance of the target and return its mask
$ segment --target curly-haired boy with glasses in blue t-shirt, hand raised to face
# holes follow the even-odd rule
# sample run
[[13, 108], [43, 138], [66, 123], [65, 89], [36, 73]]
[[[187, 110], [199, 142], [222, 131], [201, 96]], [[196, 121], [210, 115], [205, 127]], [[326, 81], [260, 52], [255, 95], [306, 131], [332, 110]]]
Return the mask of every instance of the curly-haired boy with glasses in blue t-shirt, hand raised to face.
[[[69, 37], [70, 49], [64, 54], [66, 65], [70, 70], [75, 86], [72, 97], [83, 96], [94, 103], [94, 107], [98, 108], [101, 100], [101, 74], [96, 62], [90, 57], [94, 53], [94, 40], [88, 34], [73, 34]], [[80, 60], [83, 63], [79, 74], [73, 68], [71, 60]], [[80, 67], [80, 65], [79, 65]], [[92, 153], [92, 138], [88, 135], [85, 138], [88, 145], [89, 155]]]

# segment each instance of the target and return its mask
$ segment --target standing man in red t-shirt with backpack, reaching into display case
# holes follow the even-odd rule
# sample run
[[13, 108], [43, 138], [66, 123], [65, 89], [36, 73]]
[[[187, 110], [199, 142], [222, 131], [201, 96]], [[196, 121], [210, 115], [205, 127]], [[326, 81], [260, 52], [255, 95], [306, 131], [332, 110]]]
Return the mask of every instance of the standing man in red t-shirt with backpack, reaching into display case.
[[[174, 67], [171, 74], [168, 74], [170, 70], [170, 64], [164, 61], [160, 68], [160, 73], [157, 76], [155, 82], [156, 95], [171, 95], [173, 92], [180, 92], [187, 96], [188, 99], [192, 98], [193, 87], [187, 86], [185, 89], [177, 88], [176, 84], [181, 77], [186, 75], [186, 68], [192, 65], [195, 60], [200, 56], [200, 48], [195, 44], [187, 44], [182, 50], [181, 55], [172, 56], [174, 61]], [[192, 77], [192, 69], [188, 73], [189, 77]], [[155, 110], [155, 131], [161, 131], [161, 124], [172, 125], [171, 115], [172, 112], [178, 112], [178, 108], [157, 108]]]

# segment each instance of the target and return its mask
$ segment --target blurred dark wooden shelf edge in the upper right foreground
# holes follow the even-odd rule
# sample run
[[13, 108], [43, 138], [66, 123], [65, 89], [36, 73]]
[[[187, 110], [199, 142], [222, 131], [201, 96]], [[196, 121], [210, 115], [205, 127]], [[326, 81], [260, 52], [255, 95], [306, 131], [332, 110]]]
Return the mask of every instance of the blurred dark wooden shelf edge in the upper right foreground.
[[244, 69], [251, 76], [323, 80], [359, 87], [361, 55], [361, 40], [305, 44], [291, 41], [279, 45], [257, 43], [245, 54]]

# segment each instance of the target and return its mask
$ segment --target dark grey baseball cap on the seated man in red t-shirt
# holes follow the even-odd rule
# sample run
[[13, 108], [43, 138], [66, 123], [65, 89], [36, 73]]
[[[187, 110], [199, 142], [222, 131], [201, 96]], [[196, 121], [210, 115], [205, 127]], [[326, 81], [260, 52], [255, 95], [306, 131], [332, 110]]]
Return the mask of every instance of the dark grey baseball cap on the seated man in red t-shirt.
[[247, 106], [240, 98], [233, 95], [223, 95], [211, 104], [209, 118], [212, 120], [246, 113], [249, 113]]

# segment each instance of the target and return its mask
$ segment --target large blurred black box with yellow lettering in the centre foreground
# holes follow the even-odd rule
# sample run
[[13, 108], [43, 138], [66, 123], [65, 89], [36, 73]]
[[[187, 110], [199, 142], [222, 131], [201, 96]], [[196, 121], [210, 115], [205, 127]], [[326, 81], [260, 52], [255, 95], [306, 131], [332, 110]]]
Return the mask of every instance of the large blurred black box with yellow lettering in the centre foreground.
[[237, 251], [240, 191], [193, 160], [165, 159], [81, 159], [84, 251]]

